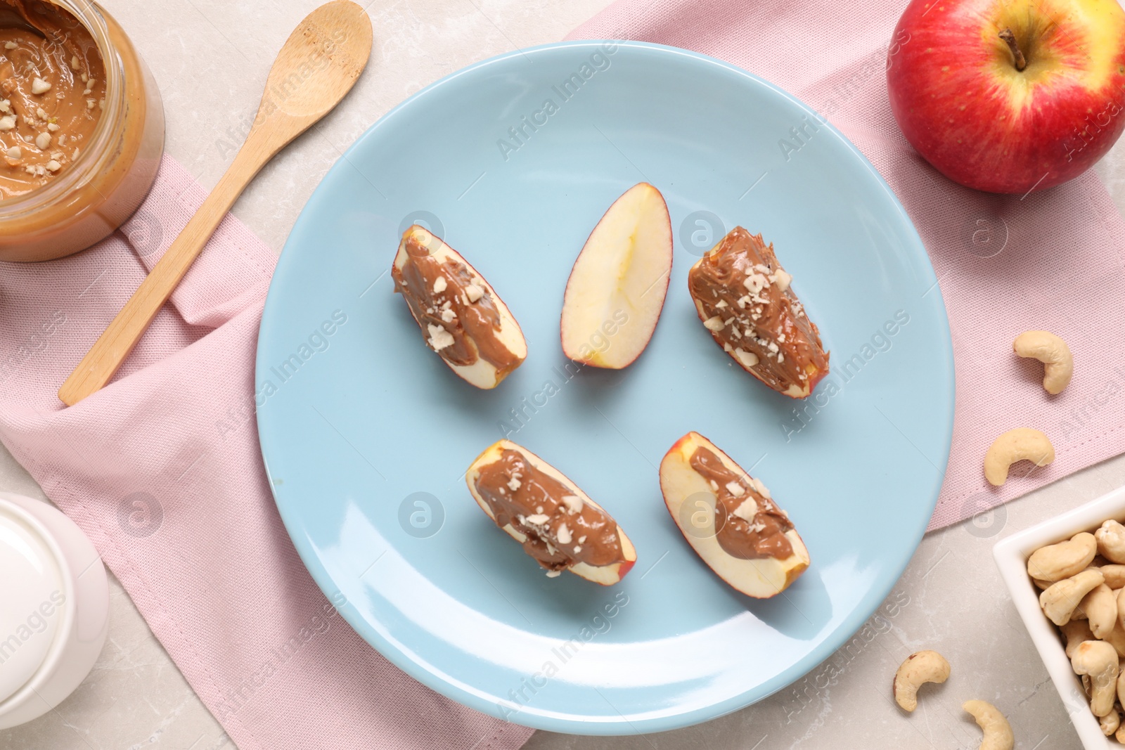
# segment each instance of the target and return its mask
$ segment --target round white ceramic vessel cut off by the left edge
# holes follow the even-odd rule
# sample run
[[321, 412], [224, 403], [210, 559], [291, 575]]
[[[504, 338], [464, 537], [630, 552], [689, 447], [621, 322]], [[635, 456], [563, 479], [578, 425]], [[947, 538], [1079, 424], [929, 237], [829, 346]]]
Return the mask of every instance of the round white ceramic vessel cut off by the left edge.
[[109, 587], [93, 544], [54, 506], [0, 493], [0, 729], [63, 702], [97, 661]]

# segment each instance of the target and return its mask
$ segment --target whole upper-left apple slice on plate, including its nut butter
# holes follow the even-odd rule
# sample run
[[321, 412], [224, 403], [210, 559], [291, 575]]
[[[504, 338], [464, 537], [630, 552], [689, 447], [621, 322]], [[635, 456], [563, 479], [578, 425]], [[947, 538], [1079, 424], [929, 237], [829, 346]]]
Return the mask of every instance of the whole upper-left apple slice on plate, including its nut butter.
[[495, 388], [526, 359], [528, 342], [504, 300], [428, 229], [403, 233], [390, 275], [426, 345], [460, 378]]

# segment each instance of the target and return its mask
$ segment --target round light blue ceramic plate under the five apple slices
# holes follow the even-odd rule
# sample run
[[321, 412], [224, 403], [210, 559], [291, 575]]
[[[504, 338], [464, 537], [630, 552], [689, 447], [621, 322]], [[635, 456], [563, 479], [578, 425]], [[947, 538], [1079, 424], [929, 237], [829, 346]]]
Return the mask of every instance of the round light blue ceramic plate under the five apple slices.
[[[656, 335], [624, 371], [568, 377], [570, 266], [642, 180], [676, 235]], [[415, 220], [523, 327], [529, 358], [495, 390], [454, 377], [392, 293]], [[775, 244], [831, 350], [834, 374], [804, 403], [732, 367], [695, 316], [687, 269], [736, 224]], [[638, 43], [488, 60], [364, 133], [289, 236], [256, 379], [278, 508], [360, 635], [474, 708], [585, 734], [702, 722], [831, 654], [921, 537], [953, 422], [940, 292], [871, 164], [773, 85]], [[803, 535], [812, 567], [783, 596], [735, 593], [668, 517], [657, 464], [690, 430], [754, 467]], [[639, 559], [620, 585], [546, 578], [480, 512], [462, 473], [502, 434], [628, 531]]]

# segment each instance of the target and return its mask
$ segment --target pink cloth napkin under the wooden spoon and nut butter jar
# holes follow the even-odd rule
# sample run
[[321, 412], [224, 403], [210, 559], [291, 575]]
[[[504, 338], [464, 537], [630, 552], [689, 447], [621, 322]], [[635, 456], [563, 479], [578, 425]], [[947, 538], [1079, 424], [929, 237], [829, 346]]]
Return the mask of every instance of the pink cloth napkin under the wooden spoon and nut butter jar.
[[276, 257], [226, 217], [104, 390], [55, 396], [204, 191], [164, 157], [120, 232], [0, 264], [0, 440], [90, 536], [241, 750], [519, 748], [531, 730], [423, 687], [313, 582], [273, 505], [254, 347]]

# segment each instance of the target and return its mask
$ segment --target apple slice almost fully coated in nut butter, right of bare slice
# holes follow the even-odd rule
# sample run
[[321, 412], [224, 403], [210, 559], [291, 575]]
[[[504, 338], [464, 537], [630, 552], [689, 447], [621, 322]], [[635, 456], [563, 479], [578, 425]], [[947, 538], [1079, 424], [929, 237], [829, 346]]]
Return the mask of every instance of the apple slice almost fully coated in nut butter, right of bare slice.
[[828, 374], [828, 353], [791, 281], [773, 245], [740, 226], [687, 273], [696, 311], [716, 343], [774, 390], [804, 398]]

